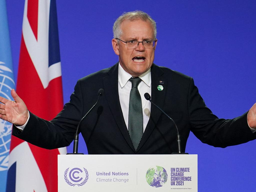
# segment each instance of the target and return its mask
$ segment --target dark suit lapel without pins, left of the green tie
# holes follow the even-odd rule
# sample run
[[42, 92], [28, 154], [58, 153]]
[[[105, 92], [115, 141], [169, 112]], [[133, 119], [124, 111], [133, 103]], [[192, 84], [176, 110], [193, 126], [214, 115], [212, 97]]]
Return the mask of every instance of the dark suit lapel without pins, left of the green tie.
[[[118, 63], [109, 70], [109, 76], [103, 78], [104, 92], [106, 100], [109, 104], [111, 113], [114, 116], [115, 122], [118, 125], [121, 133], [123, 134], [125, 141], [135, 152], [129, 132], [124, 122], [123, 113], [120, 105], [118, 94]], [[114, 94], [113, 94], [114, 93]], [[117, 94], [115, 94], [117, 93]]]

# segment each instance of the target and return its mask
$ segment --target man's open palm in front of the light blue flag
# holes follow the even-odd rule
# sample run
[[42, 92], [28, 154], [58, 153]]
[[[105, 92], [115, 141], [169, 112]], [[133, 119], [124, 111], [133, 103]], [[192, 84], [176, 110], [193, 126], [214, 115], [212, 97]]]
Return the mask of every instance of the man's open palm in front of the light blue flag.
[[14, 101], [0, 97], [0, 118], [17, 126], [24, 125], [28, 119], [27, 106], [14, 89], [11, 94]]

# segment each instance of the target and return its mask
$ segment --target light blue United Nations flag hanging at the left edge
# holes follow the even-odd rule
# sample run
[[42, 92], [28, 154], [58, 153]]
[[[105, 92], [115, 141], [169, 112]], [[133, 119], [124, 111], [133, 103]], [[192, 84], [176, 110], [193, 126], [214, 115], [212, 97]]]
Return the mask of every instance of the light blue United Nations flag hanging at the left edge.
[[[12, 56], [5, 0], [0, 0], [0, 96], [13, 100]], [[0, 191], [5, 191], [12, 124], [0, 119]]]

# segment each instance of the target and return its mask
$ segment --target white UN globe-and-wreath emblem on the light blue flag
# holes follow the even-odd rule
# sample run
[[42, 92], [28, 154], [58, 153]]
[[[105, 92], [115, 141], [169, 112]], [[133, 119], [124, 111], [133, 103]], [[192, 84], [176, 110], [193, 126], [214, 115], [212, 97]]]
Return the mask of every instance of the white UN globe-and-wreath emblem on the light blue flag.
[[[12, 100], [11, 90], [14, 88], [12, 70], [0, 61], [0, 96]], [[0, 119], [0, 171], [8, 169], [12, 123]]]

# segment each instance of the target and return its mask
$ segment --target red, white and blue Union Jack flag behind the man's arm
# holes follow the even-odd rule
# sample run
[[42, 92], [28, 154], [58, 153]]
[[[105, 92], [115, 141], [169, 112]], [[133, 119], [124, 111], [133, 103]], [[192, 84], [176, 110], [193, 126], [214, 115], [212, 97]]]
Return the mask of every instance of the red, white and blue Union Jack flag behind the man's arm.
[[[28, 110], [43, 119], [53, 119], [63, 108], [55, 0], [25, 1], [16, 91]], [[6, 191], [58, 191], [57, 155], [66, 152], [12, 136]]]

